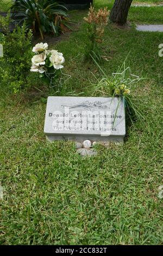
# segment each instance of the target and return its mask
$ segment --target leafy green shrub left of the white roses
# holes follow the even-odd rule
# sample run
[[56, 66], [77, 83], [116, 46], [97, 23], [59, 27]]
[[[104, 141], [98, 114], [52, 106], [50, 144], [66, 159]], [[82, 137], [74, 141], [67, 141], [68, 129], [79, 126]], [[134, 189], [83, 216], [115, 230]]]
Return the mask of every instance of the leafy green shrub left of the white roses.
[[[1, 27], [5, 25], [5, 34], [0, 33], [3, 44], [3, 57], [0, 58], [0, 79], [17, 93], [27, 87], [27, 76], [30, 69], [32, 31], [27, 33], [26, 25], [17, 27], [12, 33], [7, 28], [9, 16], [0, 19]], [[4, 30], [4, 29], [3, 29]]]

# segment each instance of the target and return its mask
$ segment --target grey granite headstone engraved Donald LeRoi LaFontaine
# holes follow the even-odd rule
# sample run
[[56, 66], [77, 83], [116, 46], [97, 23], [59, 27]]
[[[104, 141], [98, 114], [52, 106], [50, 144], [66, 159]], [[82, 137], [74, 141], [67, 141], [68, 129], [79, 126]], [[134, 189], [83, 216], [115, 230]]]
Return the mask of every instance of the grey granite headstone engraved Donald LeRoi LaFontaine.
[[49, 141], [123, 142], [124, 104], [117, 97], [49, 96], [44, 132]]

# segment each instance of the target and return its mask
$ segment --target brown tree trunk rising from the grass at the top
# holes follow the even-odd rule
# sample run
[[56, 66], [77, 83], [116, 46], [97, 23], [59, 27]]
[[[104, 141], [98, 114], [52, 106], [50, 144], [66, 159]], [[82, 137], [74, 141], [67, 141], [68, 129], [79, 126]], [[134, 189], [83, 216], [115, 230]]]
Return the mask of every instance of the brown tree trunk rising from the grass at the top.
[[132, 2], [133, 0], [115, 0], [109, 19], [114, 23], [124, 25]]

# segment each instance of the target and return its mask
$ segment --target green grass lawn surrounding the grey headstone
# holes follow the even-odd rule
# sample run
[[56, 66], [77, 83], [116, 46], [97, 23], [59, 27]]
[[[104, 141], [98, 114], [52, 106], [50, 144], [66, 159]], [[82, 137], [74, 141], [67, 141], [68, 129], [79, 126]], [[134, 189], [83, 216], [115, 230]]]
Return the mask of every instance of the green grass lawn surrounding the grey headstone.
[[[96, 7], [106, 3], [95, 1]], [[128, 17], [131, 28], [106, 28], [103, 50], [109, 62], [103, 69], [111, 75], [130, 52], [131, 71], [147, 78], [133, 94], [146, 98], [141, 110], [148, 122], [128, 126], [123, 145], [98, 146], [96, 157], [83, 159], [71, 142], [48, 143], [43, 135], [43, 99], [51, 92], [37, 90], [34, 82], [28, 93], [13, 95], [1, 84], [1, 245], [163, 244], [163, 199], [158, 197], [163, 185], [163, 58], [158, 56], [163, 34], [137, 32], [134, 25], [162, 23], [162, 12], [163, 7], [133, 7]], [[78, 30], [51, 45], [64, 53], [64, 71], [72, 76], [57, 95], [90, 96], [90, 81], [95, 82], [91, 72], [102, 78], [96, 65], [81, 65], [86, 13], [74, 13]]]

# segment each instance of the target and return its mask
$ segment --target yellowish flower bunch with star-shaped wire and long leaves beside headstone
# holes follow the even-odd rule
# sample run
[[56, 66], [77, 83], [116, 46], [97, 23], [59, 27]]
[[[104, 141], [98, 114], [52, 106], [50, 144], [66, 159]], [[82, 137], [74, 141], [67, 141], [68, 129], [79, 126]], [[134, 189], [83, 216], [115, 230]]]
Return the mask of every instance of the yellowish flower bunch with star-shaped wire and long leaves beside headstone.
[[[145, 101], [141, 96], [131, 95], [131, 86], [134, 83], [139, 82], [143, 78], [131, 74], [129, 66], [126, 68], [126, 63], [124, 62], [117, 72], [109, 77], [102, 70], [101, 66], [96, 62], [98, 68], [102, 71], [104, 77], [102, 80], [98, 80], [97, 84], [93, 85], [93, 93], [102, 93], [105, 96], [118, 97], [118, 105], [116, 108], [116, 113], [120, 102], [123, 101], [124, 107], [126, 109], [126, 115], [129, 117], [131, 123], [134, 125], [134, 120], [144, 120], [145, 117], [141, 111], [142, 101]], [[96, 78], [97, 79], [97, 78]], [[115, 113], [115, 115], [116, 115]], [[115, 120], [114, 120], [115, 121]]]

